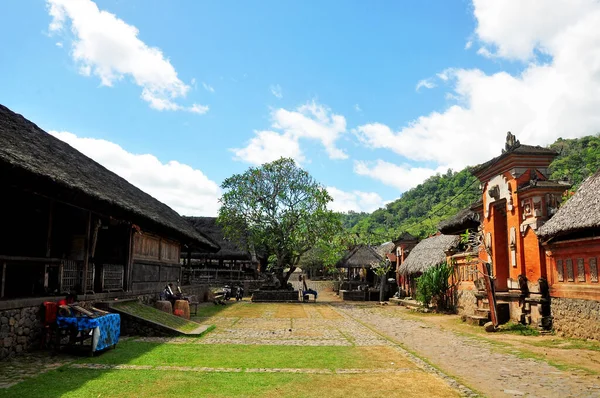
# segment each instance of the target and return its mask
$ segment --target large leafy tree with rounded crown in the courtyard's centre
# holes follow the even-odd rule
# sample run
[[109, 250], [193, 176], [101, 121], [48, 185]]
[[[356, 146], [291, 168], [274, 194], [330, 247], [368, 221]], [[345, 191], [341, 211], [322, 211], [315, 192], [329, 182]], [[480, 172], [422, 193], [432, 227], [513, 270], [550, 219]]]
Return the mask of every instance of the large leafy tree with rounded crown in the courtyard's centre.
[[327, 209], [331, 196], [293, 159], [251, 167], [221, 187], [218, 223], [225, 237], [271, 254], [281, 286], [305, 253], [342, 230], [339, 215]]

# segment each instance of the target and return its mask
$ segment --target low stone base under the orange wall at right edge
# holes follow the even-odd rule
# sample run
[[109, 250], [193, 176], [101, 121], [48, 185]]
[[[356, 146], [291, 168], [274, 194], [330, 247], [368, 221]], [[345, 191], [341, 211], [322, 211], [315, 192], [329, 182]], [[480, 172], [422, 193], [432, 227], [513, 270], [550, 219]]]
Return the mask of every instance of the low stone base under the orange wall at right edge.
[[550, 308], [559, 336], [600, 340], [600, 301], [553, 297]]

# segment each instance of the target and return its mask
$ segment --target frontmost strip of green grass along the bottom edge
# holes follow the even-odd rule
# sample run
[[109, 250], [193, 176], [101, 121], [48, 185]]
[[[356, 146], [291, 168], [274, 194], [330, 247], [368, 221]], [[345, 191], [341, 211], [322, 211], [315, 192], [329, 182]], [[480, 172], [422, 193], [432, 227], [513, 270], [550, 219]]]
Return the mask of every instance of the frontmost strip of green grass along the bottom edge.
[[373, 398], [458, 397], [456, 391], [423, 372], [390, 375], [289, 373], [200, 373], [158, 370], [61, 368], [30, 379], [0, 397], [272, 397]]

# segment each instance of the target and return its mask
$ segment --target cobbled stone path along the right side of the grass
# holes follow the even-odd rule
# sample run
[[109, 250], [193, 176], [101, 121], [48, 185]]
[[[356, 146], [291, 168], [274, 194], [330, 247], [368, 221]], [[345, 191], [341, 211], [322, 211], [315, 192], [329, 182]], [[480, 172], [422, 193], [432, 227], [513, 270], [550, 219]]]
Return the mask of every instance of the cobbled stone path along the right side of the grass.
[[402, 317], [393, 307], [341, 304], [337, 308], [486, 396], [600, 397], [598, 375], [562, 371], [543, 361], [499, 353], [486, 341]]

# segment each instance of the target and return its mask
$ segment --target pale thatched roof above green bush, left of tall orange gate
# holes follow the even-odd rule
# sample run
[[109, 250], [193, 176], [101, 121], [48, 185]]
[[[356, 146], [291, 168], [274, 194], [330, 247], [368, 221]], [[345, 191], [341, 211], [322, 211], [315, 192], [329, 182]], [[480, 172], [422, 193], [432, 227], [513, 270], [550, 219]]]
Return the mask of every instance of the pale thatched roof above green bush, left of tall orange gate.
[[400, 266], [400, 273], [423, 272], [446, 261], [446, 251], [455, 247], [460, 240], [455, 235], [436, 235], [419, 242]]

